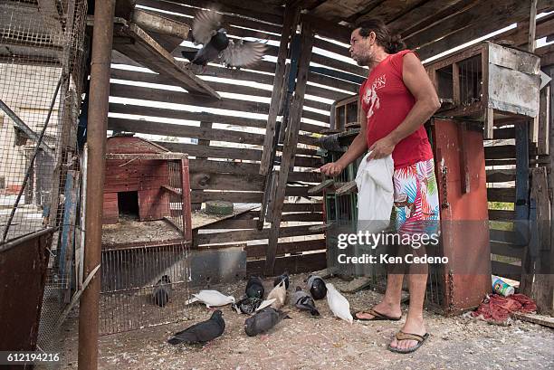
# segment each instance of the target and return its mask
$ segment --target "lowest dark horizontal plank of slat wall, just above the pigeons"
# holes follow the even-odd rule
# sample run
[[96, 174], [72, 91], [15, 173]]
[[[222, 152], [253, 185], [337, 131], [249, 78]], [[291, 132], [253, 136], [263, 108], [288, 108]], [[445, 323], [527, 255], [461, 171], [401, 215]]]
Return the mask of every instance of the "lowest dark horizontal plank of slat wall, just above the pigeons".
[[[327, 266], [326, 253], [310, 253], [279, 257], [275, 260], [275, 270], [289, 271], [289, 273], [309, 272], [322, 270]], [[249, 275], [263, 274], [264, 260], [246, 262], [246, 273]]]

